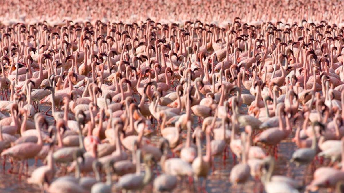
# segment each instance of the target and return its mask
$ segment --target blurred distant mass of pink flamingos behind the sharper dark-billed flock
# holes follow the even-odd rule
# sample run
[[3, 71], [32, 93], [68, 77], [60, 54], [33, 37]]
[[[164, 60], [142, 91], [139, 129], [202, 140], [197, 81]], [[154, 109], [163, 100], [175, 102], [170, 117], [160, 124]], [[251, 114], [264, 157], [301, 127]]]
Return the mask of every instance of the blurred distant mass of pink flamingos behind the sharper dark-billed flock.
[[284, 23], [331, 21], [343, 24], [344, 2], [341, 0], [11, 0], [1, 1], [0, 21], [4, 24], [47, 21], [51, 26], [63, 20], [140, 22], [147, 18], [161, 23], [184, 23], [200, 20], [226, 26], [239, 17], [259, 25], [261, 22]]

